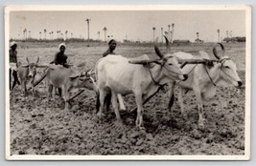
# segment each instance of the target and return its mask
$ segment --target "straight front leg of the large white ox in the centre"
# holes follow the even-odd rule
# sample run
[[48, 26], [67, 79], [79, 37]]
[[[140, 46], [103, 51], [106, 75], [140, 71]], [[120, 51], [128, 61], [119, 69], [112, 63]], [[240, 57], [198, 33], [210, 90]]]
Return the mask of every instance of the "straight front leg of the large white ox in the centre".
[[139, 129], [144, 129], [143, 127], [143, 101], [142, 101], [142, 93], [135, 93], [135, 100], [137, 104], [137, 118], [136, 118], [136, 126], [139, 127]]

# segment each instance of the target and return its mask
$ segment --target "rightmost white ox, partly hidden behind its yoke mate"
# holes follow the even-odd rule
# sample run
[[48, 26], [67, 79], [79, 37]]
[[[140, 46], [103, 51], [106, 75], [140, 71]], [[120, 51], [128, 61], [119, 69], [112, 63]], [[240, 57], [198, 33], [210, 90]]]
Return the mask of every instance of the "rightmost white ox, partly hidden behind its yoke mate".
[[[203, 102], [206, 99], [213, 97], [216, 93], [216, 87], [224, 84], [231, 84], [235, 87], [242, 86], [242, 81], [236, 72], [236, 64], [228, 57], [224, 56], [224, 47], [221, 43], [221, 54], [218, 55], [216, 46], [213, 49], [214, 55], [218, 62], [214, 62], [209, 66], [206, 64], [188, 64], [182, 71], [189, 74], [186, 81], [177, 82], [176, 85], [180, 87], [178, 93], [178, 102], [180, 105], [181, 114], [184, 114], [183, 93], [193, 90], [196, 93], [198, 102], [198, 125], [203, 127]], [[199, 52], [199, 55], [193, 56], [186, 52], [175, 52], [178, 59], [209, 59], [206, 52]], [[223, 84], [224, 83], [224, 84]], [[174, 103], [174, 88], [175, 82], [170, 83], [170, 96], [171, 100], [169, 107], [171, 109]]]

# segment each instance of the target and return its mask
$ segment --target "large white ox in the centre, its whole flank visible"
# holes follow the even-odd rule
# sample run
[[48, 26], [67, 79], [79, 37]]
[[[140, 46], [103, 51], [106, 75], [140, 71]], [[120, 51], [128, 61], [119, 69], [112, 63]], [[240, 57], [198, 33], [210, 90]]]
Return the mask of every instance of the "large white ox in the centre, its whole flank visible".
[[[144, 55], [144, 60], [131, 60], [121, 55], [107, 55], [96, 66], [97, 86], [100, 92], [100, 111], [97, 115], [102, 118], [106, 91], [112, 93], [112, 105], [118, 124], [121, 117], [118, 110], [117, 93], [134, 93], [137, 104], [136, 126], [143, 129], [143, 101], [152, 93], [155, 93], [160, 84], [166, 84], [170, 80], [186, 80], [178, 67], [178, 62], [173, 54], [162, 54], [158, 47], [154, 47], [157, 60], [150, 60]], [[131, 64], [131, 63], [136, 64]], [[151, 65], [149, 65], [151, 63]]]

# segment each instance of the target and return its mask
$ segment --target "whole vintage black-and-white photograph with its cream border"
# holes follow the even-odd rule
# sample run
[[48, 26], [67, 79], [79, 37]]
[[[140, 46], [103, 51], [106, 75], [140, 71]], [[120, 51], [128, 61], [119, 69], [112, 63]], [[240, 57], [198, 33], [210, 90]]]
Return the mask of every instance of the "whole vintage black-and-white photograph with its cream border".
[[249, 6], [10, 6], [5, 34], [7, 159], [249, 159]]

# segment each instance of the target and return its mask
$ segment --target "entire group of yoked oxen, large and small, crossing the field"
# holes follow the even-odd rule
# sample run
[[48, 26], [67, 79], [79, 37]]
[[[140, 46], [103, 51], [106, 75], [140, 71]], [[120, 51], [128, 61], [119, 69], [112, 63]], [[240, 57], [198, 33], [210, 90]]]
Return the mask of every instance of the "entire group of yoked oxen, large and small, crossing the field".
[[[235, 87], [241, 87], [242, 81], [236, 71], [236, 64], [225, 55], [225, 49], [221, 43], [213, 47], [216, 59], [212, 60], [206, 52], [198, 52], [192, 55], [186, 52], [170, 52], [167, 38], [167, 53], [159, 51], [154, 45], [157, 58], [151, 59], [144, 54], [135, 58], [127, 58], [122, 55], [107, 55], [101, 58], [94, 70], [78, 73], [74, 68], [64, 68], [59, 65], [39, 65], [31, 63], [18, 65], [18, 75], [21, 80], [24, 93], [27, 92], [26, 84], [30, 80], [33, 94], [35, 86], [44, 78], [48, 85], [48, 96], [52, 95], [53, 88], [62, 90], [62, 98], [65, 102], [65, 111], [69, 109], [71, 92], [76, 89], [84, 91], [88, 89], [97, 93], [97, 116], [103, 118], [106, 96], [111, 96], [111, 103], [116, 114], [117, 122], [121, 122], [120, 110], [125, 110], [122, 95], [134, 93], [137, 106], [136, 126], [143, 129], [143, 104], [159, 88], [169, 86], [170, 108], [174, 103], [175, 86], [179, 86], [178, 102], [181, 114], [184, 114], [183, 95], [193, 90], [198, 103], [198, 125], [203, 127], [203, 102], [215, 95], [217, 86], [222, 83]], [[221, 51], [217, 52], [217, 47]], [[181, 65], [180, 65], [181, 64]], [[35, 83], [36, 68], [45, 68], [43, 76]], [[111, 95], [108, 95], [111, 93]], [[11, 93], [12, 94], [12, 93]], [[49, 99], [48, 99], [49, 100]]]

